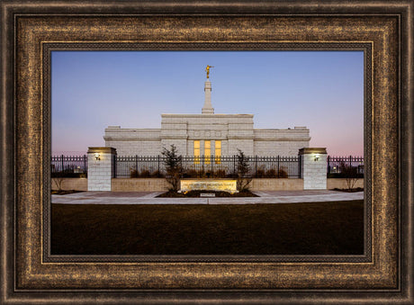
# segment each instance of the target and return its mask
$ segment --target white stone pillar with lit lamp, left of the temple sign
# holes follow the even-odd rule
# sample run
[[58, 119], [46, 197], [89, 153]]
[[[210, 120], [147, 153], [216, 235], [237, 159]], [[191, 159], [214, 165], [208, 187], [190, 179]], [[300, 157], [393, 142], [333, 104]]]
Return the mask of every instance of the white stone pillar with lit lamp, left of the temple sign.
[[111, 179], [114, 175], [113, 156], [115, 155], [115, 148], [88, 148], [88, 191], [111, 191]]

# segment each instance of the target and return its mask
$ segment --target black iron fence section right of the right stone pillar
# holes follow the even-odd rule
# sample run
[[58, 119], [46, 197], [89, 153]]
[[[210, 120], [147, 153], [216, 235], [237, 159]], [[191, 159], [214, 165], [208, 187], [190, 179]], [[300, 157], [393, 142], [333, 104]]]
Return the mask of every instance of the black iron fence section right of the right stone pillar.
[[[351, 171], [350, 171], [351, 169]], [[364, 176], [364, 157], [327, 157], [328, 177], [341, 177], [342, 175]]]

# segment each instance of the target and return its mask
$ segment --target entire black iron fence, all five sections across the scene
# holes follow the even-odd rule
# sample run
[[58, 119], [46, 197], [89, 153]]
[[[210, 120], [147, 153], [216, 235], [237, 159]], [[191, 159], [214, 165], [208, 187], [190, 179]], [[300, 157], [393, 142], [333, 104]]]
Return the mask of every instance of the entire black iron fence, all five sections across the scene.
[[[255, 178], [299, 178], [301, 176], [301, 158], [291, 157], [248, 157], [250, 168], [248, 175]], [[165, 157], [114, 156], [115, 177], [163, 177], [166, 173]], [[183, 177], [234, 177], [237, 175], [237, 156], [186, 156], [182, 157]], [[364, 176], [364, 157], [327, 158], [329, 177], [341, 177], [346, 168], [352, 168], [357, 176]], [[87, 175], [87, 156], [51, 157], [51, 175], [80, 176]]]

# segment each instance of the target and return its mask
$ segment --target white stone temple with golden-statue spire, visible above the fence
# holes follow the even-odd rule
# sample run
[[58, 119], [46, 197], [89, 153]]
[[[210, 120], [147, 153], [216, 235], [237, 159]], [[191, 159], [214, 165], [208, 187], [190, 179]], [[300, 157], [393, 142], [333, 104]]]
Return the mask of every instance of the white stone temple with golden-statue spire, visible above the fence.
[[238, 149], [247, 156], [297, 156], [300, 148], [309, 148], [306, 127], [254, 129], [253, 114], [214, 113], [208, 72], [202, 113], [161, 114], [160, 129], [108, 126], [105, 146], [116, 148], [118, 156], [157, 156], [174, 144], [183, 156], [216, 157], [237, 155]]

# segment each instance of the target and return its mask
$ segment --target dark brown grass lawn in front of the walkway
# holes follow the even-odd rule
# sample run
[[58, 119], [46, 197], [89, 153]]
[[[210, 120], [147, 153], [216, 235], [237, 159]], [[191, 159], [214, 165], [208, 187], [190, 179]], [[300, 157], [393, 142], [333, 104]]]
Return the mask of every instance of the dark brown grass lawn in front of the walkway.
[[52, 204], [54, 255], [361, 255], [364, 202]]

